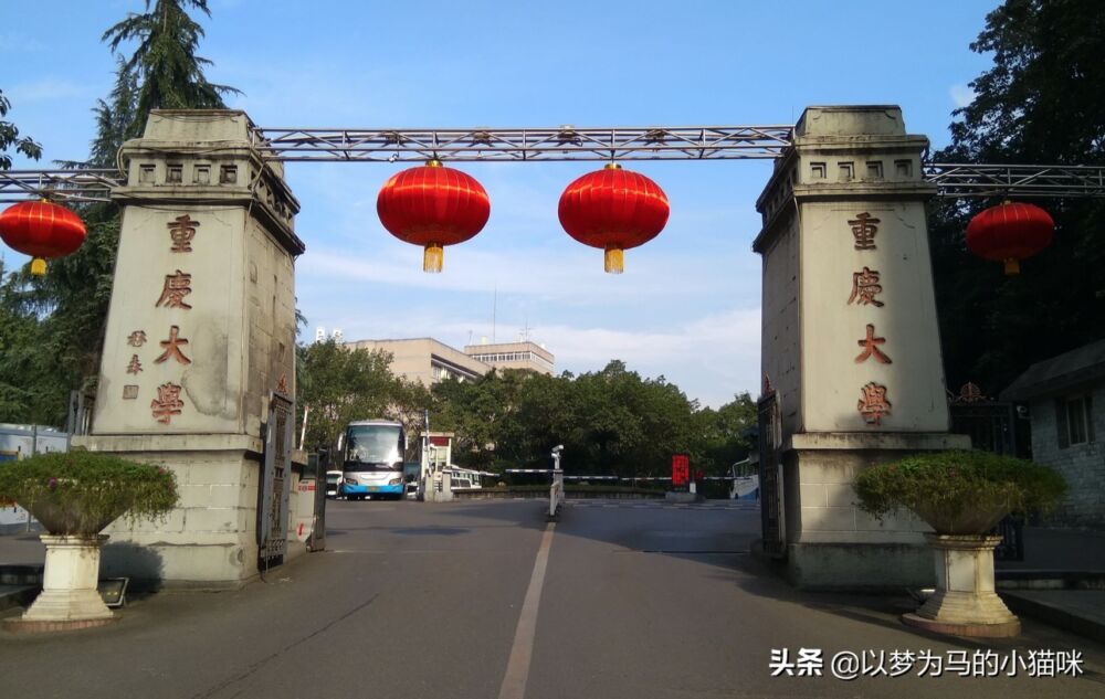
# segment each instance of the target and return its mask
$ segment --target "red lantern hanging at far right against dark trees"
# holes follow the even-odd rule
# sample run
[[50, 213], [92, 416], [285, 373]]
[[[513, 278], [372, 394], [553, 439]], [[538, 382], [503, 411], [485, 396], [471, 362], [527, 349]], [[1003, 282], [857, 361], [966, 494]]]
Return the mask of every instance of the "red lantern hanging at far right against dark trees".
[[1007, 201], [970, 220], [967, 247], [979, 257], [1006, 263], [1006, 274], [1018, 274], [1019, 261], [1046, 247], [1054, 235], [1055, 222], [1046, 211]]

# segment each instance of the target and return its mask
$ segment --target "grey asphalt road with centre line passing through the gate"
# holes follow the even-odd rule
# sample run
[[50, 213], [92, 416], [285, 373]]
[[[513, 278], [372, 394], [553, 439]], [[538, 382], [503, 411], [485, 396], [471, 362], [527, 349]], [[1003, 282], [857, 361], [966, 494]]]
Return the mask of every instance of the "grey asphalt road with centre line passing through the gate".
[[[1105, 648], [1025, 621], [1014, 640], [902, 626], [906, 599], [798, 593], [748, 554], [749, 509], [330, 501], [326, 552], [227, 593], [160, 593], [105, 628], [0, 632], [0, 678], [39, 697], [1105, 696]], [[544, 542], [544, 547], [543, 547]], [[543, 565], [544, 562], [544, 565]], [[536, 564], [536, 570], [535, 570]], [[519, 623], [520, 622], [520, 623]], [[772, 649], [820, 677], [771, 677]], [[831, 676], [836, 652], [1081, 650], [1080, 678]]]

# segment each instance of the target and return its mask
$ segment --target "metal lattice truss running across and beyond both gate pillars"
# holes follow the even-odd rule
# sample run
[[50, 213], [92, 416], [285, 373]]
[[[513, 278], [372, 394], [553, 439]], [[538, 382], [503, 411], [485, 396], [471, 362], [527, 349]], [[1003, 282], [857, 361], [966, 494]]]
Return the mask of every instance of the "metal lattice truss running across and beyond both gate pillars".
[[[792, 126], [681, 126], [470, 129], [256, 128], [266, 159], [323, 162], [530, 162], [557, 160], [774, 159]], [[1105, 197], [1105, 166], [924, 163], [943, 197]], [[0, 171], [0, 202], [48, 195], [106, 201], [124, 176], [114, 169]]]

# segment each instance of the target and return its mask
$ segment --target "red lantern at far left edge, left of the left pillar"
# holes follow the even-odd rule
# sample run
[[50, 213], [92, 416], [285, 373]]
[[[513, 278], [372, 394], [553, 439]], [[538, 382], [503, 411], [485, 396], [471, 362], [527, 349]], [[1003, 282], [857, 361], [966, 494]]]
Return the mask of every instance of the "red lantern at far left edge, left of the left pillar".
[[76, 252], [84, 236], [81, 218], [49, 201], [21, 201], [0, 213], [0, 239], [11, 248], [32, 257], [33, 275], [46, 273], [48, 257]]

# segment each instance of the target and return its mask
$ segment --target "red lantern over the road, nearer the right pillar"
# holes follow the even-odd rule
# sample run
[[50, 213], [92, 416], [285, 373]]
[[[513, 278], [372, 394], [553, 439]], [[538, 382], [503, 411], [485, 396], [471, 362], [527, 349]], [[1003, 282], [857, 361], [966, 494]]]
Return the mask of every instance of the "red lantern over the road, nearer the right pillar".
[[656, 237], [671, 208], [660, 186], [611, 162], [588, 172], [560, 195], [560, 225], [585, 245], [606, 251], [604, 268], [622, 272], [622, 251]]

